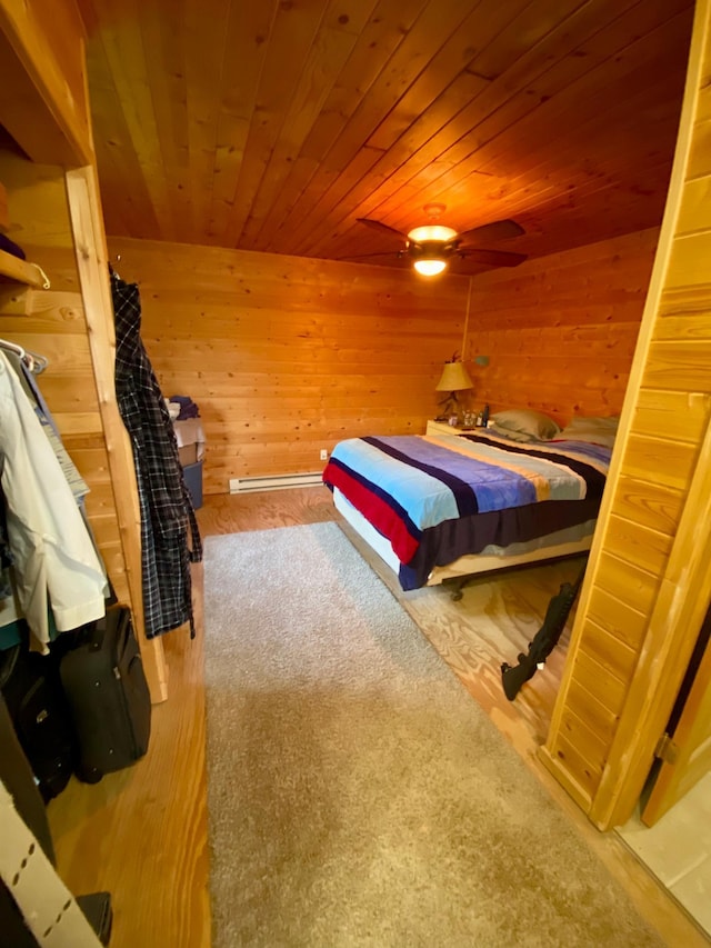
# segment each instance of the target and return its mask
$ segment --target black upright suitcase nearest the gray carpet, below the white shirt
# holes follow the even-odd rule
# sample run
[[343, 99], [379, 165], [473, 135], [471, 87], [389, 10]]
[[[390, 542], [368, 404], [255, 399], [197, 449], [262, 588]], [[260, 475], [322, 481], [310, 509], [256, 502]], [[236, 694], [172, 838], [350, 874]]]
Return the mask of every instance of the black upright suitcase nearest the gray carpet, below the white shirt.
[[80, 780], [96, 784], [146, 754], [151, 699], [127, 608], [89, 623], [62, 657], [60, 673], [79, 738]]

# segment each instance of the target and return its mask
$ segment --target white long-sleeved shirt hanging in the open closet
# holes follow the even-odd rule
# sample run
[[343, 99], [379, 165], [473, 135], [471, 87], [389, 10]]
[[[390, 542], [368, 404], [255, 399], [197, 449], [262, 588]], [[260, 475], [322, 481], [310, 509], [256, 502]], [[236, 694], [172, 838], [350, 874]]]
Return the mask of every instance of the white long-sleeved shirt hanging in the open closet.
[[46, 650], [50, 603], [59, 631], [101, 618], [106, 573], [40, 420], [2, 350], [0, 466], [18, 598], [30, 631]]

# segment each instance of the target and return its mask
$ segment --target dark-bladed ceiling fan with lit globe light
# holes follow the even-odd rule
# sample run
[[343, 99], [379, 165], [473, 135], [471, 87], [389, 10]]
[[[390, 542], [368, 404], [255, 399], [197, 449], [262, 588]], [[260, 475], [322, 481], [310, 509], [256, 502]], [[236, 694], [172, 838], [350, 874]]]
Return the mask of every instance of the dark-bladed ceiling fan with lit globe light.
[[485, 267], [518, 267], [527, 259], [525, 253], [487, 250], [481, 247], [471, 247], [467, 242], [472, 239], [482, 242], [505, 240], [525, 233], [514, 220], [497, 220], [458, 233], [451, 227], [443, 227], [439, 223], [444, 210], [444, 204], [425, 204], [424, 212], [428, 214], [430, 223], [415, 227], [407, 234], [379, 220], [358, 218], [359, 223], [364, 223], [367, 227], [390, 234], [390, 237], [394, 236], [403, 241], [404, 246], [400, 250], [385, 253], [360, 253], [358, 258], [349, 257], [347, 259], [392, 257], [393, 255], [399, 258], [408, 257], [412, 260], [414, 269], [423, 277], [435, 277], [447, 268], [452, 258], [457, 257], [467, 257]]

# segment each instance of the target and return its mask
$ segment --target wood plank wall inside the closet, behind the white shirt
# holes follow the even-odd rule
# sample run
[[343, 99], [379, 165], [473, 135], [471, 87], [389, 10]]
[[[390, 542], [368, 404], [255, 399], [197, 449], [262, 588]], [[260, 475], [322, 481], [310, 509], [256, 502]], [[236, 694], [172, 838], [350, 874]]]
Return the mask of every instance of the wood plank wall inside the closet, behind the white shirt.
[[113, 486], [93, 376], [87, 321], [73, 261], [63, 170], [0, 151], [9, 236], [39, 263], [50, 290], [7, 293], [0, 336], [49, 359], [38, 381], [62, 440], [90, 487], [87, 512], [119, 599], [130, 602]]

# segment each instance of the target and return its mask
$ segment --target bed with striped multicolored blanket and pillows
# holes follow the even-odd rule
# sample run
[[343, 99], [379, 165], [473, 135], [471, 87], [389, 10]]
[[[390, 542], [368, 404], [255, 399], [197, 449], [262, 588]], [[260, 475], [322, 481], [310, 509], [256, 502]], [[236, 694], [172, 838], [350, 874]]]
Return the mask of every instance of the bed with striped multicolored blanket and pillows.
[[336, 446], [323, 481], [404, 591], [580, 553], [613, 433], [552, 426], [351, 438]]

